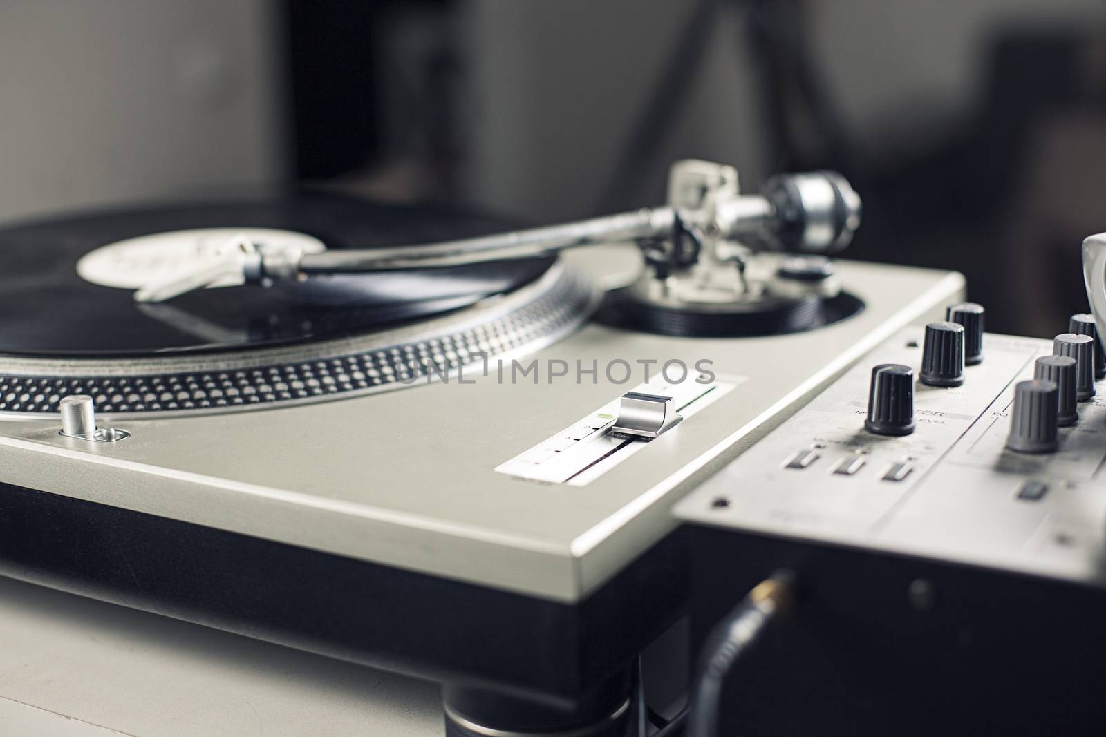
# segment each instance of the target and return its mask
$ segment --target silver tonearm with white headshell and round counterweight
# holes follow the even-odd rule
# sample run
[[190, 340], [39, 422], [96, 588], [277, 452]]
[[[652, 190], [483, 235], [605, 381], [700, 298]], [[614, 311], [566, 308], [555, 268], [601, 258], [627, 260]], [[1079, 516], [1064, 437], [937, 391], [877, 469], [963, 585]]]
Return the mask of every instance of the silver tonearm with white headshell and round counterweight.
[[668, 204], [589, 220], [439, 243], [322, 253], [261, 252], [232, 239], [195, 272], [147, 284], [138, 302], [163, 302], [228, 275], [269, 285], [315, 274], [432, 269], [553, 254], [601, 243], [637, 242], [659, 278], [702, 262], [721, 263], [719, 244], [748, 251], [830, 254], [859, 224], [860, 200], [841, 175], [817, 171], [773, 177], [759, 194], [740, 194], [733, 167], [686, 160], [672, 166]]

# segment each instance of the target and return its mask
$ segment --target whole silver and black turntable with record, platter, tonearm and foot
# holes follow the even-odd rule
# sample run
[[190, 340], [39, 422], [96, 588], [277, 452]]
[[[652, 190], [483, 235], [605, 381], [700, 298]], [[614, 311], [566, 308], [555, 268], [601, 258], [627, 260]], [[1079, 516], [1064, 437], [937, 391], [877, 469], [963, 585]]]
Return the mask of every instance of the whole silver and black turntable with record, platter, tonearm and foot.
[[858, 218], [684, 161], [499, 235], [323, 193], [9, 229], [0, 573], [439, 680], [451, 734], [616, 734], [671, 505], [962, 294], [831, 261]]

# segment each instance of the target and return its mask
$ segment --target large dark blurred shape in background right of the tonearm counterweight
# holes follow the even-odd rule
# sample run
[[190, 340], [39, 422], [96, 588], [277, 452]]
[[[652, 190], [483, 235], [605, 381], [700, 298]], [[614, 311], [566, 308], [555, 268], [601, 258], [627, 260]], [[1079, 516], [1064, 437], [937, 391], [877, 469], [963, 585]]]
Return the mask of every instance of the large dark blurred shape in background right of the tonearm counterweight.
[[1051, 337], [1086, 310], [1082, 240], [1106, 230], [1106, 35], [1013, 25], [984, 56], [970, 120], [924, 157], [857, 164], [851, 256], [968, 275], [988, 329]]

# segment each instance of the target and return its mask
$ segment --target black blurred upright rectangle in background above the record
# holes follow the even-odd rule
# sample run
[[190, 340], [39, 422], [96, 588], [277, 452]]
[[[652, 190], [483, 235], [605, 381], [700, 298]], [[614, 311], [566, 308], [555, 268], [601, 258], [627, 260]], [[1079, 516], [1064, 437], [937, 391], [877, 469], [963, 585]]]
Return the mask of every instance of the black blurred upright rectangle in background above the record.
[[288, 0], [299, 179], [379, 200], [457, 189], [461, 61], [448, 0]]

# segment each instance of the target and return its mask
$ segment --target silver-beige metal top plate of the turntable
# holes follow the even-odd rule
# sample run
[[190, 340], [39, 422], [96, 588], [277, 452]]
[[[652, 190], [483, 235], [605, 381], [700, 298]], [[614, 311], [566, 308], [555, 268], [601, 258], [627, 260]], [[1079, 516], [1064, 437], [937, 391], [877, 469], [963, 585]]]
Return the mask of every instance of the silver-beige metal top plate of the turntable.
[[[635, 251], [624, 255], [633, 256]], [[633, 260], [562, 255], [594, 282], [623, 282]], [[963, 295], [958, 274], [841, 262], [867, 307], [807, 333], [672, 338], [588, 324], [526, 358], [603, 367], [707, 359], [744, 380], [586, 486], [525, 481], [495, 467], [617, 400], [628, 387], [510, 380], [492, 364], [455, 380], [268, 411], [126, 417], [125, 443], [58, 434], [56, 420], [0, 422], [3, 481], [456, 580], [577, 601], [674, 527], [669, 509], [904, 325]], [[510, 299], [510, 297], [508, 297]], [[494, 309], [494, 307], [484, 307]], [[989, 359], [990, 360], [990, 359]], [[639, 368], [637, 370], [640, 370]], [[630, 385], [635, 386], [635, 385]], [[101, 424], [118, 418], [101, 413]], [[858, 474], [856, 477], [863, 475]]]

